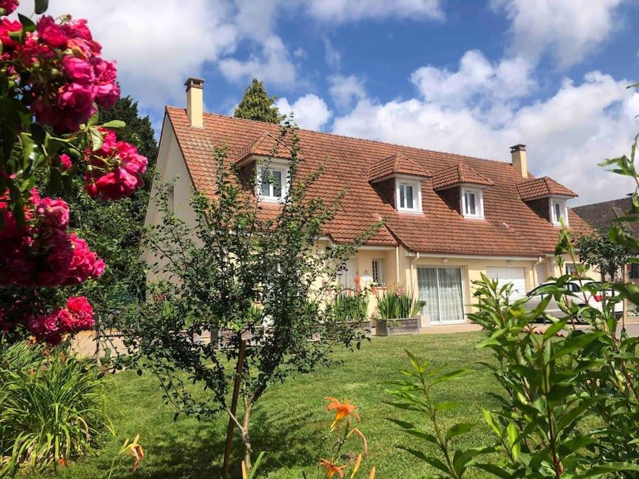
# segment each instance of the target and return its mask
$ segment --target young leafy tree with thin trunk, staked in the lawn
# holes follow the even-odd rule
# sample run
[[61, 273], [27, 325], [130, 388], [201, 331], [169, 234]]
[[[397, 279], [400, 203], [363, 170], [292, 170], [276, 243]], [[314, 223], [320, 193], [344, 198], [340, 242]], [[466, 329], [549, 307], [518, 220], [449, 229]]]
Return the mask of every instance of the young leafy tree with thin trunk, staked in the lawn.
[[[372, 224], [353, 243], [318, 248], [339, 198], [311, 197], [308, 191], [321, 172], [301, 177], [295, 130], [283, 127], [280, 139], [290, 151], [290, 188], [277, 210], [255, 202], [250, 194], [255, 181], [229, 167], [224, 149], [215, 151], [215, 195], [191, 200], [195, 227], [168, 210], [166, 188], [159, 188], [163, 222], [146, 243], [164, 279], [149, 284], [149, 301], [119, 326], [130, 353], [123, 359], [159, 377], [166, 400], [180, 412], [198, 418], [220, 410], [229, 414], [249, 468], [251, 412], [269, 384], [328, 365], [335, 346], [359, 346], [365, 337], [338, 323], [322, 303], [340, 265], [381, 226]], [[215, 339], [199, 341], [206, 331], [229, 332], [224, 347]], [[240, 416], [232, 413], [229, 394], [247, 335]], [[178, 372], [196, 386], [186, 387]]]

